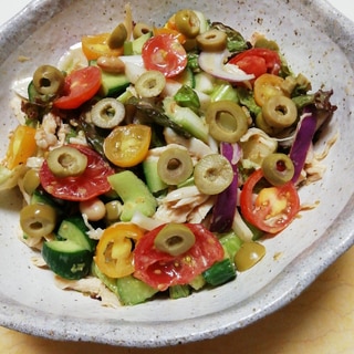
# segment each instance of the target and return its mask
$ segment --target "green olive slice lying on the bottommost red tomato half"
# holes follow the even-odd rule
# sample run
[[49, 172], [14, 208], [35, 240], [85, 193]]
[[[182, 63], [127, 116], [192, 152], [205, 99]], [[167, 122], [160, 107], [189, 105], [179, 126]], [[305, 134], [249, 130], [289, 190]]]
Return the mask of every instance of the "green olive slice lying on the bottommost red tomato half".
[[183, 223], [168, 223], [155, 237], [154, 246], [170, 256], [187, 252], [196, 242], [191, 230]]

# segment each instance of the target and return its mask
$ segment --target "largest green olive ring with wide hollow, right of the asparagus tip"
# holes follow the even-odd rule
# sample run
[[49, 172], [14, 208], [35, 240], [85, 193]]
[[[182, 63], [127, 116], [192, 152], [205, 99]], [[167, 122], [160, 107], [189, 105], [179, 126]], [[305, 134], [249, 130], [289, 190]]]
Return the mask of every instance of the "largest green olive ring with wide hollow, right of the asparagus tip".
[[232, 101], [216, 101], [206, 112], [209, 134], [219, 142], [237, 143], [248, 129], [248, 118], [240, 105]]

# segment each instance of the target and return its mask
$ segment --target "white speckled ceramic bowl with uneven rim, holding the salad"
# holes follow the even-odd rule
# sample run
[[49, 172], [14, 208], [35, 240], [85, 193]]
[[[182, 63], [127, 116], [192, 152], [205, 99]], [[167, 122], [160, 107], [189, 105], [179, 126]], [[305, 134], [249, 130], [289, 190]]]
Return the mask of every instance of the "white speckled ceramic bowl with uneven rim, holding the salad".
[[[335, 116], [317, 144], [339, 133], [325, 159], [325, 176], [301, 189], [301, 212], [289, 229], [264, 241], [267, 256], [236, 281], [177, 300], [106, 309], [80, 293], [55, 288], [49, 271], [31, 264], [32, 252], [17, 239], [21, 198], [0, 194], [0, 324], [34, 335], [125, 346], [163, 346], [226, 334], [283, 306], [299, 295], [354, 240], [354, 25], [325, 1], [135, 1], [134, 19], [163, 24], [180, 8], [204, 11], [246, 38], [263, 32], [275, 39], [294, 72], [313, 87], [333, 88]], [[83, 34], [110, 31], [123, 17], [124, 2], [33, 1], [1, 28], [0, 155], [15, 126], [9, 101], [14, 80], [42, 63], [56, 63]], [[28, 61], [19, 61], [20, 56]], [[277, 257], [277, 254], [279, 257]]]

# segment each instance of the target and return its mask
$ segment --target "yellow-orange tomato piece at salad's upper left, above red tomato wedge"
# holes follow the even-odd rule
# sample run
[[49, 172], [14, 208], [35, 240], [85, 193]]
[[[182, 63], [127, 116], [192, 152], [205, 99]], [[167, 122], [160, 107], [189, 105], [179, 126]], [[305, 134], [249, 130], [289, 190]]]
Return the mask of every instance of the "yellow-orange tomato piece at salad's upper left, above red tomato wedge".
[[87, 60], [97, 60], [100, 56], [123, 55], [124, 48], [111, 49], [107, 44], [111, 33], [85, 35], [81, 39], [82, 51]]

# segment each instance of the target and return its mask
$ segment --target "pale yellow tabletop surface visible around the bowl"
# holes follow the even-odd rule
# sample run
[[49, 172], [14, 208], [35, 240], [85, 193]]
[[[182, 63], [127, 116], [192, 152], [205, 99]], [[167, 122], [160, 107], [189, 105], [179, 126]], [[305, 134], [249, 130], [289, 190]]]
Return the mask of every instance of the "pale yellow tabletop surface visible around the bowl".
[[[29, 0], [12, 0], [1, 10], [8, 20]], [[354, 14], [347, 0], [330, 0]], [[334, 3], [335, 2], [335, 3]], [[56, 342], [0, 327], [0, 354], [353, 354], [354, 247], [337, 259], [298, 299], [259, 322], [214, 340], [164, 348], [126, 348], [93, 343]]]

